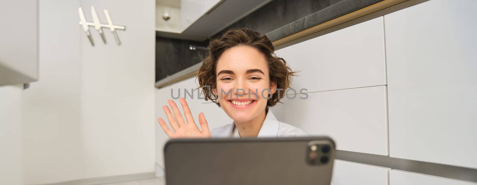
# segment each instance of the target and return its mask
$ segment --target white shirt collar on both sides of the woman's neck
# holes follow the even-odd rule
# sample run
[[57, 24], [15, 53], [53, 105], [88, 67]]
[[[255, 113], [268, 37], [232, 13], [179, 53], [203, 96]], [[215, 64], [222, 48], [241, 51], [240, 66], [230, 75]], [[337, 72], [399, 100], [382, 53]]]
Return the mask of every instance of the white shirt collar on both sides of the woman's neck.
[[[268, 110], [267, 116], [265, 116], [265, 120], [263, 121], [262, 127], [260, 128], [259, 135], [257, 137], [277, 137], [278, 136], [278, 127], [279, 121], [273, 115], [271, 110]], [[225, 132], [222, 133], [222, 137], [230, 137], [232, 132], [234, 132], [235, 123], [232, 121], [232, 124], [227, 127]]]

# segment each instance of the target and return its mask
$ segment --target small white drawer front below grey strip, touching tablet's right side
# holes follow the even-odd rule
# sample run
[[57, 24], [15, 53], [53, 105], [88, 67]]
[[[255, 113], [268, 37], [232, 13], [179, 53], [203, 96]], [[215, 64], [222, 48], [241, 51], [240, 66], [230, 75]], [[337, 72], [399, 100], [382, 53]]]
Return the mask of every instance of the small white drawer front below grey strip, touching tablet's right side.
[[387, 185], [391, 168], [335, 160], [333, 185]]

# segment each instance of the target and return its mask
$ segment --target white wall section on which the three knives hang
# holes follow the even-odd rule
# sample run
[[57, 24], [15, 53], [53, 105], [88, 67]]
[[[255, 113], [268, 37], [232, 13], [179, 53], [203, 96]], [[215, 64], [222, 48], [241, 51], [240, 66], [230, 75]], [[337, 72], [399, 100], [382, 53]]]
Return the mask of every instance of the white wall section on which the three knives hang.
[[[81, 0], [86, 19], [95, 6], [100, 21], [107, 9], [116, 31], [103, 29], [107, 43], [92, 31], [81, 43], [81, 120], [85, 177], [147, 173], [155, 170], [155, 0]], [[91, 27], [93, 28], [93, 27]]]

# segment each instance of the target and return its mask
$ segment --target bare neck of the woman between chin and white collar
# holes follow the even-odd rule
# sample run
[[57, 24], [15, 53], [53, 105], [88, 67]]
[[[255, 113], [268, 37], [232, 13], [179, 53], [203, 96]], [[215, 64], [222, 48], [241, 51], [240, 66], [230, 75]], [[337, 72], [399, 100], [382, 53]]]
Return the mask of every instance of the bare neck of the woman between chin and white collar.
[[262, 124], [265, 121], [267, 113], [263, 110], [257, 117], [244, 123], [237, 123], [234, 121], [235, 126], [239, 129], [240, 137], [257, 137], [262, 128]]

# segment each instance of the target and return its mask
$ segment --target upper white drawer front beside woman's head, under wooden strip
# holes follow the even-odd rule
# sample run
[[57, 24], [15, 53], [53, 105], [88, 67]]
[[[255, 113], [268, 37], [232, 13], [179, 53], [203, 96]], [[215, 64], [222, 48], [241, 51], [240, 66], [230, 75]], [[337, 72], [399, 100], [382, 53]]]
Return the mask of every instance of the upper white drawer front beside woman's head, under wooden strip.
[[386, 84], [383, 17], [303, 41], [275, 53], [301, 71], [292, 87], [308, 92]]

